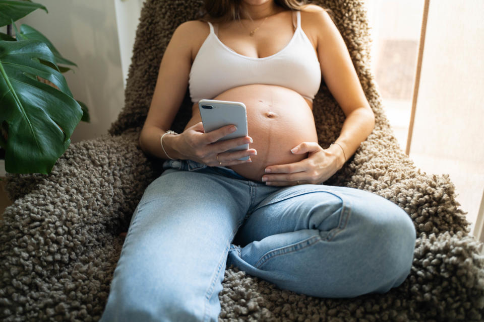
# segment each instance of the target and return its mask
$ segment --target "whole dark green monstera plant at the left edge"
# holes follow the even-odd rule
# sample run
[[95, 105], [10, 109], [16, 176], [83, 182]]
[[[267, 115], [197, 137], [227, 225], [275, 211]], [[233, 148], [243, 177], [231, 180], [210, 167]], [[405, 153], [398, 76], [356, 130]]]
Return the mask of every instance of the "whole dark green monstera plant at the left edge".
[[47, 9], [30, 0], [0, 0], [0, 146], [9, 173], [51, 172], [66, 151], [79, 121], [89, 121], [87, 107], [76, 101], [62, 72], [77, 66], [65, 59], [40, 32], [15, 21]]

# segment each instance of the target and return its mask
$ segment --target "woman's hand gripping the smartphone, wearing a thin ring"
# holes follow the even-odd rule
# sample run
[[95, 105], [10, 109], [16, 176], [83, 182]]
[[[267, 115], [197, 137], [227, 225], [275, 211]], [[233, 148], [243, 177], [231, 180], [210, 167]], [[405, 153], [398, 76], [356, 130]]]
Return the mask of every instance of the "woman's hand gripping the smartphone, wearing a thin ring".
[[[235, 130], [234, 125], [226, 125], [205, 133], [202, 122], [199, 122], [187, 128], [183, 133], [173, 136], [171, 148], [185, 159], [191, 159], [210, 167], [234, 166], [252, 162], [250, 156], [257, 154], [255, 149], [227, 152], [233, 147], [252, 143], [250, 136], [217, 142], [218, 139], [235, 132]], [[246, 156], [249, 156], [248, 160], [238, 160]]]

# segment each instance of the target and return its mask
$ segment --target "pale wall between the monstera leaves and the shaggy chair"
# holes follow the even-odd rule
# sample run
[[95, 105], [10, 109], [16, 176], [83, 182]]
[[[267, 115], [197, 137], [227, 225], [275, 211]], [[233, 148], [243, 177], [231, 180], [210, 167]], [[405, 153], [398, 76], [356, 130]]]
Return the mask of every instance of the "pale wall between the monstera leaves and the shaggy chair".
[[[98, 137], [124, 106], [123, 72], [113, 1], [36, 0], [49, 13], [36, 10], [16, 22], [42, 32], [78, 67], [64, 73], [75, 99], [84, 102], [91, 123], [80, 122], [71, 140]], [[6, 30], [6, 28], [5, 28]], [[4, 31], [5, 32], [5, 31]]]

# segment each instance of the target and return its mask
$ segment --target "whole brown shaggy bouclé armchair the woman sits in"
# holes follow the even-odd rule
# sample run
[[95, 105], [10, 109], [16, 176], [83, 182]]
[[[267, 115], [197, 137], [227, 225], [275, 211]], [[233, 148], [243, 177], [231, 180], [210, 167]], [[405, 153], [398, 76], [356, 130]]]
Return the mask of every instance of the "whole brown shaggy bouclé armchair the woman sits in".
[[[315, 298], [227, 268], [220, 321], [479, 321], [484, 259], [448, 176], [421, 173], [400, 150], [370, 71], [369, 28], [359, 0], [314, 1], [330, 8], [376, 115], [376, 127], [327, 184], [381, 195], [412, 218], [417, 244], [410, 276], [386, 294]], [[147, 0], [133, 49], [125, 107], [109, 134], [72, 144], [50, 175], [9, 175], [14, 204], [0, 226], [0, 320], [93, 321], [102, 314], [133, 211], [161, 174], [138, 135], [173, 30], [201, 0]], [[190, 117], [187, 92], [174, 130]], [[323, 83], [314, 101], [320, 144], [344, 115]]]

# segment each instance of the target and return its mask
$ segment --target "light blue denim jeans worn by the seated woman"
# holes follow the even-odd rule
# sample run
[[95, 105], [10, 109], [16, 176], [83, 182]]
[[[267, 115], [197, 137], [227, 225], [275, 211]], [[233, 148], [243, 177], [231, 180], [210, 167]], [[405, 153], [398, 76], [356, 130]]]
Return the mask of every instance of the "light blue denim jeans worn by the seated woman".
[[168, 160], [131, 219], [102, 321], [217, 321], [226, 265], [318, 297], [385, 293], [410, 273], [415, 228], [387, 199], [266, 186]]

